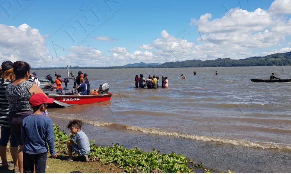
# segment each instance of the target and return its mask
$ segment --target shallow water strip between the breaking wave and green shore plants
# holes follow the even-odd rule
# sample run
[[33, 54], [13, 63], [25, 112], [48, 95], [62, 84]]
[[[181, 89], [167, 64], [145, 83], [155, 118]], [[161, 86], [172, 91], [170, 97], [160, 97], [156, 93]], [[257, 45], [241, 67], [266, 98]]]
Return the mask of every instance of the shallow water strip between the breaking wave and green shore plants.
[[[61, 126], [61, 130], [64, 129], [67, 134], [70, 132], [65, 128], [68, 119], [51, 118], [55, 125]], [[82, 129], [88, 134], [89, 140], [94, 139], [94, 144], [98, 146], [107, 147], [118, 143], [128, 149], [137, 146], [148, 152], [155, 148], [160, 153], [184, 154], [185, 157], [192, 159], [194, 164], [204, 163], [203, 168], [214, 169], [214, 171], [225, 172], [230, 170], [237, 173], [278, 171], [288, 173], [290, 171], [288, 169], [288, 157], [285, 155], [288, 152], [280, 149], [247, 148], [217, 142], [136, 133], [123, 128], [118, 129], [114, 126], [96, 127], [88, 123], [85, 123]], [[268, 160], [262, 161], [265, 158]], [[282, 166], [285, 166], [285, 168]]]

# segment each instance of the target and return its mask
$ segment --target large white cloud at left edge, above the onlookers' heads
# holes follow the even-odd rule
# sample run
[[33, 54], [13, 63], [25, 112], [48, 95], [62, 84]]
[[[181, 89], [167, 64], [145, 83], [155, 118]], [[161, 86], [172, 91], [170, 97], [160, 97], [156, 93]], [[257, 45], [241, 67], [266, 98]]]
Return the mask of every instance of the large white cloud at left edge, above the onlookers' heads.
[[52, 58], [45, 37], [26, 23], [14, 27], [0, 24], [0, 61], [26, 61], [32, 66], [45, 66]]

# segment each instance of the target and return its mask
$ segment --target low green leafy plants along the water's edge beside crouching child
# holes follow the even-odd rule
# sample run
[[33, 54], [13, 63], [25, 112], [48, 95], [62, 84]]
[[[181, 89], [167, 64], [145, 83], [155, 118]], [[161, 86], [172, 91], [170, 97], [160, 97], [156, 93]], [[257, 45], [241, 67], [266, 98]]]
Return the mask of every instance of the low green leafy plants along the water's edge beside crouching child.
[[[60, 131], [60, 126], [54, 125], [55, 149], [57, 153], [67, 154], [67, 142], [70, 139], [65, 131]], [[100, 161], [102, 164], [114, 164], [124, 168], [128, 173], [193, 173], [193, 168], [188, 167], [189, 159], [183, 154], [159, 154], [152, 149], [143, 152], [138, 147], [127, 149], [119, 144], [113, 146], [97, 146], [92, 140], [91, 151], [88, 155], [90, 161]]]

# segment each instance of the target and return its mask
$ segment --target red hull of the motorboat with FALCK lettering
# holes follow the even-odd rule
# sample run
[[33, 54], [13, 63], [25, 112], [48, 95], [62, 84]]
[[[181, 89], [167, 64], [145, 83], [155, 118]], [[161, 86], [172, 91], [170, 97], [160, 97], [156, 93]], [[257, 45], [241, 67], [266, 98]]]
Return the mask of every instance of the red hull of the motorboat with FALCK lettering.
[[47, 108], [60, 108], [80, 104], [105, 102], [109, 101], [111, 96], [111, 93], [102, 95], [47, 95], [47, 97], [54, 99], [54, 103], [47, 104]]

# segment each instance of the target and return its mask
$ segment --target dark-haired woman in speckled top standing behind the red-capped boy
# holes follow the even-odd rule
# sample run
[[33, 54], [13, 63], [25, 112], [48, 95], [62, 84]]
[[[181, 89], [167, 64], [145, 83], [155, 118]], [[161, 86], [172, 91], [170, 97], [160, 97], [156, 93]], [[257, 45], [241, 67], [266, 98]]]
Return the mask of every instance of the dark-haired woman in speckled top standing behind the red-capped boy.
[[[30, 66], [23, 61], [16, 61], [13, 63], [13, 73], [15, 74], [15, 81], [7, 85], [5, 95], [9, 102], [9, 127], [11, 132], [15, 135], [18, 150], [18, 167], [19, 172], [23, 173], [23, 144], [21, 141], [21, 124], [24, 117], [31, 115], [33, 109], [29, 104], [29, 98], [35, 93], [45, 93], [31, 81], [27, 81], [30, 75]], [[45, 95], [47, 96], [47, 95]]]

